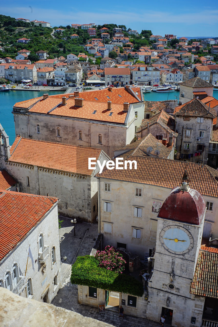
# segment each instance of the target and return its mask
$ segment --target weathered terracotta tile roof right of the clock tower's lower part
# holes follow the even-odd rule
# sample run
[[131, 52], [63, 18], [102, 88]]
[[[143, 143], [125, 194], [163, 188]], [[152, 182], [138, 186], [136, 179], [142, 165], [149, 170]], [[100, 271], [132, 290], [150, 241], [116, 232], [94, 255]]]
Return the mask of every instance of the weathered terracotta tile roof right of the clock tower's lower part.
[[218, 251], [211, 249], [214, 248], [205, 248], [199, 251], [190, 293], [218, 299]]

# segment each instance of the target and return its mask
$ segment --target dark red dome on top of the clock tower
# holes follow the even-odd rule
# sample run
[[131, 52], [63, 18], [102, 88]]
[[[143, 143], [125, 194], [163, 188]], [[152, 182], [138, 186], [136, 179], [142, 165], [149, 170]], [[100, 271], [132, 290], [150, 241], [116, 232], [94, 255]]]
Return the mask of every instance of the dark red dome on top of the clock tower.
[[164, 201], [158, 217], [199, 225], [205, 213], [201, 193], [190, 188], [188, 192], [174, 187]]

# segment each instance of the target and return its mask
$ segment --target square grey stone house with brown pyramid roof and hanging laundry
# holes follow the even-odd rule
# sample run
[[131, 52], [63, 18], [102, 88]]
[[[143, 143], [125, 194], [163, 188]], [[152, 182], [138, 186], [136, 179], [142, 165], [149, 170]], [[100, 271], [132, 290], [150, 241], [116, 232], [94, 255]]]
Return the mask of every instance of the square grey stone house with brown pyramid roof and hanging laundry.
[[207, 163], [210, 134], [216, 111], [195, 98], [176, 107], [177, 150], [181, 160]]

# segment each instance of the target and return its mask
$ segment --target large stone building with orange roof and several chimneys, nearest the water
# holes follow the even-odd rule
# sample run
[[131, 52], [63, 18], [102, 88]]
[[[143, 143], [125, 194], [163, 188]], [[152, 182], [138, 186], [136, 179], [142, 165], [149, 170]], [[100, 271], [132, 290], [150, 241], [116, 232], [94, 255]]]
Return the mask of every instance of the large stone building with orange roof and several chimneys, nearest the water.
[[133, 142], [137, 126], [144, 119], [140, 88], [107, 88], [74, 95], [45, 94], [16, 103], [13, 107], [16, 135], [95, 147], [110, 158], [114, 147]]

